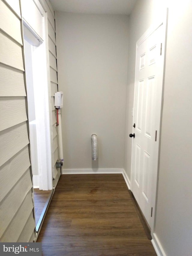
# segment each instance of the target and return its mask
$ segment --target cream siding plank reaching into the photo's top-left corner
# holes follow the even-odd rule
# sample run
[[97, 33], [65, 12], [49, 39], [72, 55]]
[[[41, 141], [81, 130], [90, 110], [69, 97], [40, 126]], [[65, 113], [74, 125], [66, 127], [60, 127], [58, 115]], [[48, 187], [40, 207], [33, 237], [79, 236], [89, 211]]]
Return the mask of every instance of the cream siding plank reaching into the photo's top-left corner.
[[0, 17], [1, 30], [22, 45], [20, 19], [2, 0], [0, 1]]

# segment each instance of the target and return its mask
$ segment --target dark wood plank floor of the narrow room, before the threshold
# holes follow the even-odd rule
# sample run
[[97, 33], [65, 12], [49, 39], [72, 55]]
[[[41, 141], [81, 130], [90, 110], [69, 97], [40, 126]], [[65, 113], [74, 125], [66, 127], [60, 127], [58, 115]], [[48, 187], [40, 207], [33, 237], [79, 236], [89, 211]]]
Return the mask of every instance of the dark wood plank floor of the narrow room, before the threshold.
[[37, 242], [44, 256], [157, 255], [122, 174], [61, 175]]

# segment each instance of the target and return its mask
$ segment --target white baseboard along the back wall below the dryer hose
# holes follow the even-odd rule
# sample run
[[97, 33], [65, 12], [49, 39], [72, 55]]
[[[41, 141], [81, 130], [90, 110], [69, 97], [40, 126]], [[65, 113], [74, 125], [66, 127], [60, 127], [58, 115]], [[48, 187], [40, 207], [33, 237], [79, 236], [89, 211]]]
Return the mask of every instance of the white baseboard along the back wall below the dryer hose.
[[62, 174], [107, 174], [123, 173], [123, 169], [63, 169]]

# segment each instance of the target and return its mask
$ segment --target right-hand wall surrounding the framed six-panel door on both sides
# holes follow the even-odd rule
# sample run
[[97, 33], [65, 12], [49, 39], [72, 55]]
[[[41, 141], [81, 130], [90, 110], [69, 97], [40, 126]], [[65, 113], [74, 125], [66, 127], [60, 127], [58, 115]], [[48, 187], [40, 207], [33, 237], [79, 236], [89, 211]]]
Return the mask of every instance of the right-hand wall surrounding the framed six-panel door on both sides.
[[[155, 234], [169, 256], [192, 251], [192, 2], [138, 0], [130, 16], [126, 130], [132, 131], [135, 44], [169, 7], [164, 105]], [[126, 138], [125, 170], [131, 172], [131, 140]]]

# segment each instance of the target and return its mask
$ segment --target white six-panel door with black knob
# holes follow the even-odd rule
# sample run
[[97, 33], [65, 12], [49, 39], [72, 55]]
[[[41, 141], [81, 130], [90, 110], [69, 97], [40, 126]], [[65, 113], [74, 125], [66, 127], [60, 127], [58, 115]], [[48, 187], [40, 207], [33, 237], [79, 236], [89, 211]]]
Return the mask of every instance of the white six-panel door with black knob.
[[164, 25], [136, 49], [131, 190], [149, 226], [153, 223], [163, 84]]

